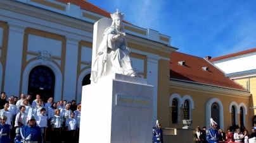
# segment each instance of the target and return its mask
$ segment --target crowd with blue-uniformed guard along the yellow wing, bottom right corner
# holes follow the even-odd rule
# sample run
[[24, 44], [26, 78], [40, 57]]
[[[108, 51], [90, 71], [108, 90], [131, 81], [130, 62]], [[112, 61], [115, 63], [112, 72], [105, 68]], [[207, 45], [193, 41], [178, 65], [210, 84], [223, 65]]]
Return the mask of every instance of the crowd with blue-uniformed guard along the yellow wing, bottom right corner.
[[244, 125], [239, 127], [238, 125], [232, 125], [227, 129], [225, 133], [222, 129], [217, 129], [217, 123], [211, 123], [210, 129], [203, 127], [200, 128], [200, 125], [196, 127], [196, 142], [197, 143], [207, 143], [207, 142], [245, 142], [249, 143], [249, 139], [256, 137], [256, 123], [252, 127], [252, 133], [249, 134], [249, 131], [245, 128]]

